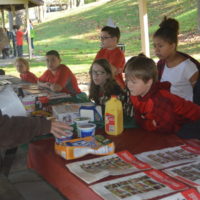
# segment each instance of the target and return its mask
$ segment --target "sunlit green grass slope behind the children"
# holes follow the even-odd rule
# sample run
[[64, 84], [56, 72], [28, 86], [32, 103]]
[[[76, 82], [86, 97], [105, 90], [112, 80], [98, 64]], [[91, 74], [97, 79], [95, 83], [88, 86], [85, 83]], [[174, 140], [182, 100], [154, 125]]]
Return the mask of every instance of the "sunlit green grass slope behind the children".
[[[57, 19], [35, 26], [36, 54], [45, 55], [48, 50], [58, 50], [63, 63], [74, 73], [87, 72], [99, 50], [100, 29], [111, 17], [120, 27], [121, 43], [126, 45], [126, 56], [137, 55], [141, 51], [137, 2], [138, 0], [112, 0], [98, 7], [65, 12]], [[184, 35], [197, 30], [196, 0], [190, 0], [189, 3], [188, 0], [151, 0], [148, 1], [148, 14], [152, 56], [152, 35], [165, 15], [180, 22], [180, 33]], [[179, 45], [179, 50], [198, 59], [199, 48], [199, 44], [189, 42]], [[45, 62], [31, 60], [31, 71], [37, 75], [45, 69]], [[15, 73], [13, 66], [7, 66], [5, 70], [10, 74]]]

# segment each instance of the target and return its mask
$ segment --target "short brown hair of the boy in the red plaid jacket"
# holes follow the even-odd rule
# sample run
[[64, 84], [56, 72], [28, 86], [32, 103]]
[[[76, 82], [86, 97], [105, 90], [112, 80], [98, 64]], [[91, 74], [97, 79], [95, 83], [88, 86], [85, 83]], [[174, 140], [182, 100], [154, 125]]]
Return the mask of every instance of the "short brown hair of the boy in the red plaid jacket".
[[139, 54], [128, 60], [125, 65], [125, 73], [129, 77], [142, 79], [147, 83], [150, 79], [155, 83], [158, 80], [158, 71], [155, 62], [144, 54]]

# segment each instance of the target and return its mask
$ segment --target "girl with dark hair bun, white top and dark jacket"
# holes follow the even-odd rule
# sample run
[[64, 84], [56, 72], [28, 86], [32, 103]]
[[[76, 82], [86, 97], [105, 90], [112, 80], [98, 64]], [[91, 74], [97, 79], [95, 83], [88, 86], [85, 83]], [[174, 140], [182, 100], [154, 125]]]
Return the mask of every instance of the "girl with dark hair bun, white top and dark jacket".
[[177, 51], [179, 23], [165, 17], [153, 35], [154, 50], [160, 59], [157, 66], [161, 82], [171, 83], [170, 91], [193, 101], [193, 88], [199, 78], [198, 62]]

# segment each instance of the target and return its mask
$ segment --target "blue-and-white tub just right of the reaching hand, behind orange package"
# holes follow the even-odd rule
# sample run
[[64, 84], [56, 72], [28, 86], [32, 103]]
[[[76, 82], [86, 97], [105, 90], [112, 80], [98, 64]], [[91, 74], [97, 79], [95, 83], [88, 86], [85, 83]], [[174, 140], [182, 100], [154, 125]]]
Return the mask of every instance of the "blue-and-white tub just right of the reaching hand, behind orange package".
[[95, 129], [96, 125], [92, 123], [78, 124], [77, 125], [78, 137], [94, 136]]

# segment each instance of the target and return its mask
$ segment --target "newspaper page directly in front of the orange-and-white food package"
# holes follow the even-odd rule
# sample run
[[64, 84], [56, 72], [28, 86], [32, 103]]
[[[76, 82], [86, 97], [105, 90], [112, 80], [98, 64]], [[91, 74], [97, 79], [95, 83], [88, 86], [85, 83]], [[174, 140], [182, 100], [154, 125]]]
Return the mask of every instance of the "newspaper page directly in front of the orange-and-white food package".
[[139, 161], [128, 151], [70, 163], [66, 167], [88, 184], [110, 175], [128, 174], [151, 168], [148, 164]]

